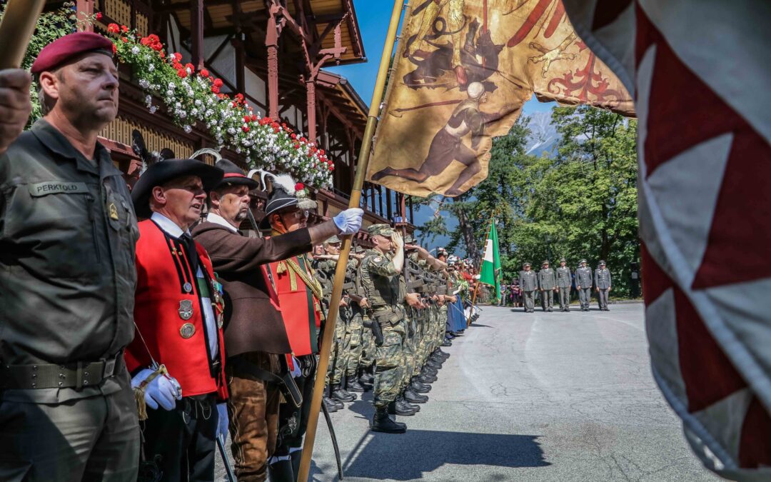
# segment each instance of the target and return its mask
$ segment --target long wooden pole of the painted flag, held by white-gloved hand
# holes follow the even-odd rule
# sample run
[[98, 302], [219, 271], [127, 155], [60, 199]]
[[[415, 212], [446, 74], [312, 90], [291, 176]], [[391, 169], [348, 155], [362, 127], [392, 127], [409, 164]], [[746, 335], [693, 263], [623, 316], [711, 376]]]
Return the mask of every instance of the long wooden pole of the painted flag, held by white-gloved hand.
[[[382, 101], [383, 90], [385, 89], [385, 79], [388, 76], [389, 64], [393, 52], [394, 42], [396, 41], [396, 31], [399, 28], [399, 18], [402, 14], [402, 5], [404, 0], [394, 0], [393, 10], [391, 12], [391, 22], [389, 23], [388, 33], [385, 35], [385, 45], [383, 46], [382, 57], [378, 76], [375, 81], [375, 89], [372, 91], [372, 102], [369, 103], [369, 115], [362, 138], [362, 148], [359, 150], [359, 160], [356, 164], [356, 177], [353, 181], [351, 190], [351, 199], [348, 201], [348, 207], [359, 207], [362, 196], [362, 187], [364, 187], [364, 177], [367, 174], [369, 165], [369, 154], [372, 149], [372, 137], [375, 134], [375, 125], [377, 124], [380, 113], [380, 103]], [[350, 234], [342, 237], [342, 247], [340, 256], [335, 268], [335, 281], [332, 285], [332, 298], [329, 301], [329, 311], [325, 322], [324, 339], [319, 352], [318, 367], [316, 369], [316, 379], [313, 386], [313, 396], [311, 398], [311, 412], [308, 414], [308, 428], [305, 431], [305, 442], [302, 446], [302, 457], [300, 460], [300, 470], [297, 474], [298, 482], [308, 480], [308, 473], [311, 469], [311, 458], [313, 457], [313, 444], [316, 440], [316, 427], [318, 426], [318, 413], [322, 410], [322, 396], [324, 395], [324, 385], [327, 368], [329, 366], [329, 353], [332, 351], [332, 339], [335, 335], [335, 323], [337, 322], [340, 299], [342, 298], [342, 285], [345, 280], [345, 267], [348, 265], [348, 254], [351, 252]]]

